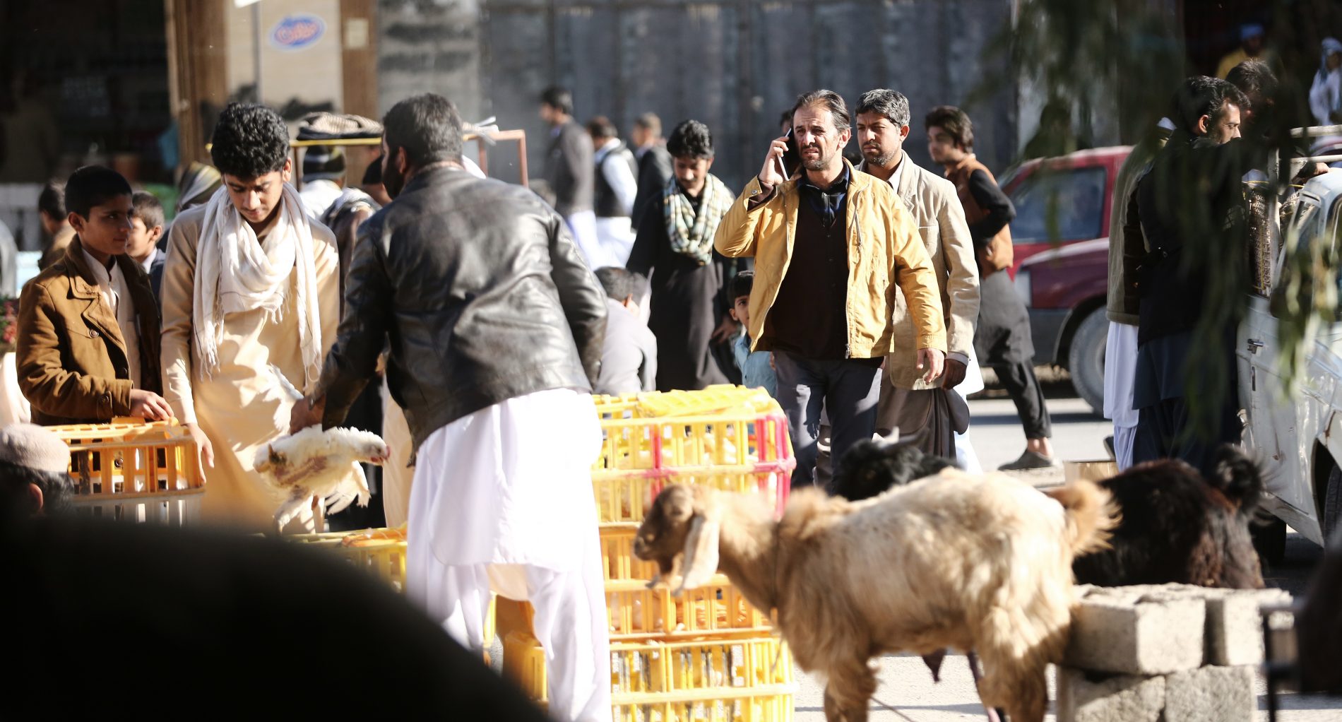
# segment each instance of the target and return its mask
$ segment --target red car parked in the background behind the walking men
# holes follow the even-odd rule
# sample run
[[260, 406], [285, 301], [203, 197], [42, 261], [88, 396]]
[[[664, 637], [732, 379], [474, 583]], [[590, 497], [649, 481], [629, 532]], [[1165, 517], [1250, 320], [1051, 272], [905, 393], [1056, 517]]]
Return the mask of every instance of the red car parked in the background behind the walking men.
[[1035, 362], [1066, 368], [1076, 393], [1104, 408], [1108, 219], [1131, 146], [1027, 161], [1002, 183], [1016, 220], [1016, 290], [1029, 309]]

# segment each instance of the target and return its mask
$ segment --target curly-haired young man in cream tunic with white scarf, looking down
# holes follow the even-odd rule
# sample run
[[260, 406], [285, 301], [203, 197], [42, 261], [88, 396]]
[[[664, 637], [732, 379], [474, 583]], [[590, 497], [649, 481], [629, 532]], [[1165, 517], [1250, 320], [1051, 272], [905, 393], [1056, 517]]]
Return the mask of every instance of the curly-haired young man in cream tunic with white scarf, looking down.
[[278, 113], [231, 103], [212, 142], [224, 184], [177, 216], [168, 240], [164, 389], [199, 446], [203, 514], [264, 527], [278, 501], [252, 459], [287, 432], [290, 411], [272, 366], [298, 388], [317, 381], [340, 321], [340, 264], [331, 232], [289, 184]]

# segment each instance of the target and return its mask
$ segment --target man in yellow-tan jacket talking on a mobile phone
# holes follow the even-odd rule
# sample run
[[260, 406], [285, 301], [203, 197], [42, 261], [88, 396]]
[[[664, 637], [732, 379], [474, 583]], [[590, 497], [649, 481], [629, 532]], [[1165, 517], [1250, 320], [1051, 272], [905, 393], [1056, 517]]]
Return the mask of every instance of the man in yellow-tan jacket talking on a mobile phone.
[[831, 90], [800, 95], [792, 132], [801, 173], [786, 177], [788, 138], [774, 138], [760, 174], [718, 225], [714, 246], [729, 258], [756, 259], [752, 350], [773, 352], [797, 487], [815, 479], [821, 408], [829, 413], [836, 467], [875, 431], [895, 295], [903, 291], [907, 299], [927, 382], [942, 374], [946, 325], [909, 209], [890, 184], [856, 172], [841, 154], [852, 136], [843, 98]]

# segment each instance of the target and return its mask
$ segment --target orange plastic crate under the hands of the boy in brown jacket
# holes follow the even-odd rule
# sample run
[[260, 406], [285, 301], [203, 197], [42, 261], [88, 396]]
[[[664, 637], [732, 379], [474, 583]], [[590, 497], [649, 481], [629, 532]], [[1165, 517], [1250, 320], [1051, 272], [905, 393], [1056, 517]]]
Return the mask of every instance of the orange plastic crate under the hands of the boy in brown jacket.
[[205, 494], [196, 442], [172, 421], [48, 427], [70, 447], [79, 513], [172, 526], [193, 523]]

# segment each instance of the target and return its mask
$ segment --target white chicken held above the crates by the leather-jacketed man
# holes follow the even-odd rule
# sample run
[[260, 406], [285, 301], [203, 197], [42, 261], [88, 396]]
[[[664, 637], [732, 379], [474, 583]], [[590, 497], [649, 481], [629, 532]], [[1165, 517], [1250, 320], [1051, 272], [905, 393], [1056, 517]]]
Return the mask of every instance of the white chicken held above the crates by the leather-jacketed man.
[[[271, 372], [280, 388], [294, 401], [303, 397], [276, 366]], [[275, 510], [276, 529], [293, 521], [307, 505], [325, 502], [326, 513], [336, 514], [356, 499], [368, 506], [369, 488], [360, 462], [381, 464], [391, 456], [381, 436], [354, 428], [307, 427], [256, 450], [254, 467], [270, 482], [276, 497], [283, 497]]]

